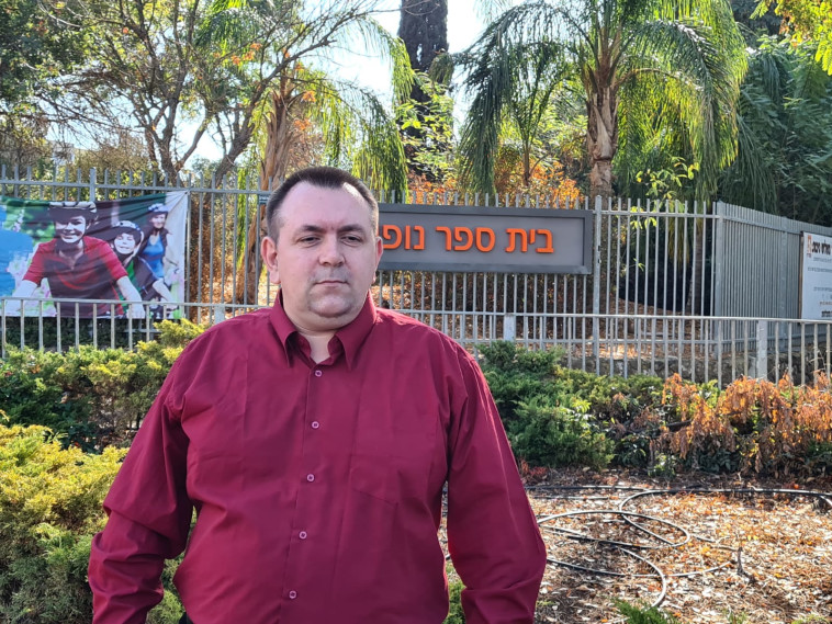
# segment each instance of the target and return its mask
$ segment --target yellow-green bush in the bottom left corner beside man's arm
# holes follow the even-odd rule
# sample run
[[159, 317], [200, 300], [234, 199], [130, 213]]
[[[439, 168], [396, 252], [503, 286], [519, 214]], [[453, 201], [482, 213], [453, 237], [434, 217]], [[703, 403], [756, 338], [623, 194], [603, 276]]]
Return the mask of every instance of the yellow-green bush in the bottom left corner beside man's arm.
[[123, 455], [63, 449], [43, 427], [0, 426], [0, 621], [90, 621], [90, 540]]

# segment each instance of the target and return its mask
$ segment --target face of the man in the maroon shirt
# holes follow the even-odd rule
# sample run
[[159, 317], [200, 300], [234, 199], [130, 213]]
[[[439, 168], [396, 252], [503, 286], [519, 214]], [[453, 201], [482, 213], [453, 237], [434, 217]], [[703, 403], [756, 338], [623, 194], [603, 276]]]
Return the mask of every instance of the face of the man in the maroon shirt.
[[370, 207], [349, 186], [301, 182], [286, 195], [278, 218], [279, 239], [267, 237], [262, 256], [269, 280], [280, 284], [290, 320], [303, 333], [349, 324], [364, 304], [381, 259]]

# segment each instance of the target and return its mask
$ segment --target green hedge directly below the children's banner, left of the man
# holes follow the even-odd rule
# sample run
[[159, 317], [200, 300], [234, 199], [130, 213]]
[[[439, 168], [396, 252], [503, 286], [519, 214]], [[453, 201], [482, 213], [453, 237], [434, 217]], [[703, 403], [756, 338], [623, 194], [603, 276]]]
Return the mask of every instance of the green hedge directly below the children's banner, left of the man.
[[0, 363], [7, 422], [48, 427], [85, 450], [128, 442], [173, 361], [203, 331], [185, 320], [162, 321], [159, 330], [158, 341], [139, 342], [135, 351], [11, 349]]

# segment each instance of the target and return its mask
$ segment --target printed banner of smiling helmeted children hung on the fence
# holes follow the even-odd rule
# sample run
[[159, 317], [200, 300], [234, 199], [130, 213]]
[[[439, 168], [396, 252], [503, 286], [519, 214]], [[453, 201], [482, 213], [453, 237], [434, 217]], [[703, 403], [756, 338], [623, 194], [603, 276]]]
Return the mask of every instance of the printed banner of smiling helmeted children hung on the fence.
[[101, 202], [0, 195], [0, 297], [46, 299], [9, 298], [5, 314], [23, 304], [26, 315], [145, 318], [149, 305], [153, 318], [178, 317], [188, 205], [187, 191]]

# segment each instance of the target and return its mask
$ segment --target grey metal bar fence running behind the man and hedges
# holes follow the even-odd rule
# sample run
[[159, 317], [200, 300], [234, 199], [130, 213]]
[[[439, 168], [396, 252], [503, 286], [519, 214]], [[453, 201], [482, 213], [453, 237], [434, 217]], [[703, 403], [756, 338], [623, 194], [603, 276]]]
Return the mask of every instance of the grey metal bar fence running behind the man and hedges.
[[[35, 175], [0, 171], [0, 194], [35, 200], [109, 200], [172, 189], [190, 191], [189, 302], [180, 314], [204, 324], [271, 305], [261, 275], [259, 209], [268, 192], [255, 183], [188, 180], [168, 186], [130, 173], [94, 170]], [[830, 373], [828, 321], [798, 317], [800, 234], [832, 228], [800, 224], [722, 203], [559, 204], [542, 196], [380, 193], [387, 203], [501, 207], [582, 207], [595, 213], [592, 275], [380, 271], [378, 305], [418, 318], [466, 348], [510, 340], [560, 348], [564, 363], [600, 374], [678, 372], [720, 385], [740, 375], [805, 383]], [[7, 315], [0, 299], [0, 347], [132, 348], [151, 339], [144, 319]], [[74, 306], [72, 300], [58, 302]]]

